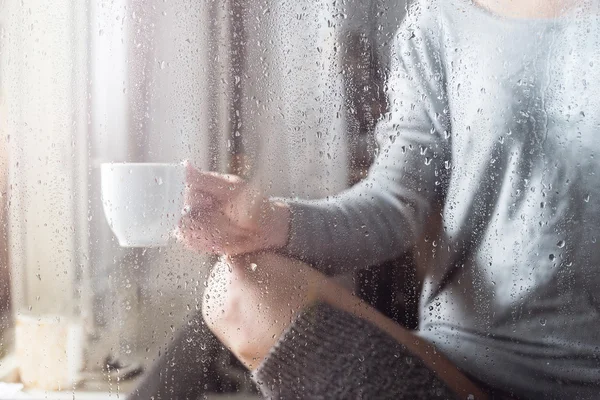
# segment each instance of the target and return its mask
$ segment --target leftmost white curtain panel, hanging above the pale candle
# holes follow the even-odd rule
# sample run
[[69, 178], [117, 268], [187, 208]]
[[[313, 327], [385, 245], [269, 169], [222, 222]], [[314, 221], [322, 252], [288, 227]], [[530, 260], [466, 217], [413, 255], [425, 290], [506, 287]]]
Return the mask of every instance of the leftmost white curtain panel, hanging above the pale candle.
[[[2, 94], [16, 311], [71, 315], [87, 239], [85, 5], [2, 4]], [[77, 33], [77, 34], [76, 34]], [[77, 303], [79, 304], [79, 303]]]

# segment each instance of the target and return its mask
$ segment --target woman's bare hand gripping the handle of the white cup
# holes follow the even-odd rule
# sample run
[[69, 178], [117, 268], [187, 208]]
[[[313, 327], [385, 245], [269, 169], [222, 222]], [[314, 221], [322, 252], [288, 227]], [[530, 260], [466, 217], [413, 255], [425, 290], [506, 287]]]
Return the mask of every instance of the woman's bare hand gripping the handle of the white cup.
[[179, 238], [199, 252], [238, 255], [285, 246], [290, 212], [235, 175], [186, 165], [186, 214]]

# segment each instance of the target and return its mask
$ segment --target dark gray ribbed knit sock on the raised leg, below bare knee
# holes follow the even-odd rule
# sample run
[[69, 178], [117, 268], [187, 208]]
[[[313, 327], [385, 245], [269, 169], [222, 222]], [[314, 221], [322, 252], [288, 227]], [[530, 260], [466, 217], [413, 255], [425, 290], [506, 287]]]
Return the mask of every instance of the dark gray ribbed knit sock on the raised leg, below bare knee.
[[304, 310], [253, 373], [266, 399], [454, 399], [375, 325], [326, 304]]

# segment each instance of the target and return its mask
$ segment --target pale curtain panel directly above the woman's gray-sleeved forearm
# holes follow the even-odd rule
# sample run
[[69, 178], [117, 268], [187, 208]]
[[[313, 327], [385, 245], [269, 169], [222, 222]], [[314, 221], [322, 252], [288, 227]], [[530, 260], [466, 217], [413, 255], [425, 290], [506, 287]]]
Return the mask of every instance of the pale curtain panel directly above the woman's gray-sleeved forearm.
[[[352, 37], [388, 62], [404, 0], [248, 1], [242, 7], [244, 149], [263, 188], [318, 198], [348, 184]], [[357, 56], [372, 56], [364, 53]]]

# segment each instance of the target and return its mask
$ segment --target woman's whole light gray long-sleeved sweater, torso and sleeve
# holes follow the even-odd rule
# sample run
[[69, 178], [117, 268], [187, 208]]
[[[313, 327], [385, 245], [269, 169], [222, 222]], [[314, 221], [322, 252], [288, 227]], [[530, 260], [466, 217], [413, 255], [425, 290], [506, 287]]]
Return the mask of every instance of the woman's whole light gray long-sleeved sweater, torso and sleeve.
[[490, 385], [600, 396], [600, 18], [420, 1], [387, 90], [369, 177], [290, 201], [287, 251], [341, 272], [424, 244], [419, 335]]

